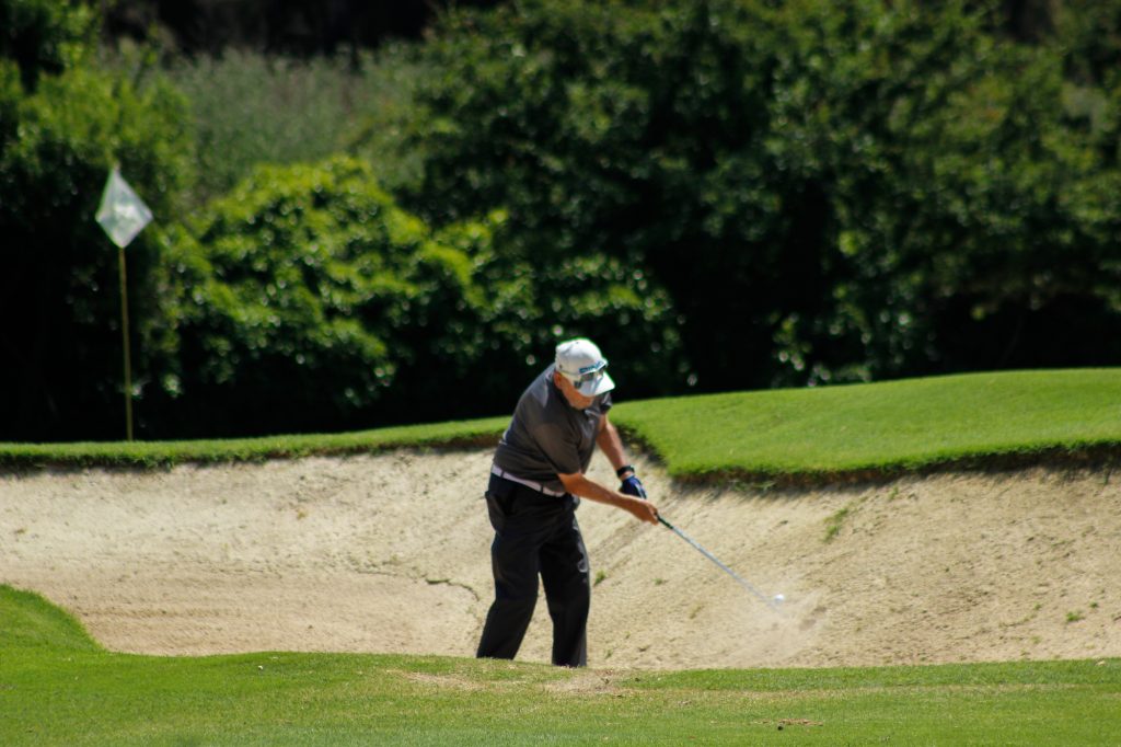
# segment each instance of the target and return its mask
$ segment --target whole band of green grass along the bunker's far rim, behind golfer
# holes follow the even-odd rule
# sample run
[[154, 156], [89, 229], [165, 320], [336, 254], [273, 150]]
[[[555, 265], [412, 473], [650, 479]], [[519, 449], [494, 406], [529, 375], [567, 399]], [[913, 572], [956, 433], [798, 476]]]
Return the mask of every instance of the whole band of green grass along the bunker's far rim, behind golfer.
[[[826, 481], [944, 464], [1121, 454], [1121, 369], [973, 374], [623, 402], [612, 419], [678, 479]], [[508, 415], [234, 441], [0, 444], [0, 465], [158, 464], [490, 445]]]

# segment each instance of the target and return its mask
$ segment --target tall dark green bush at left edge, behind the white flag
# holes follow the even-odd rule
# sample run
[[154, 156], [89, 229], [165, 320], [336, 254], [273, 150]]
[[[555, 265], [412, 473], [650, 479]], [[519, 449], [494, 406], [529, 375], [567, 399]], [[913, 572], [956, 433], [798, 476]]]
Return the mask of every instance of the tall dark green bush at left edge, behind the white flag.
[[[58, 15], [67, 8], [74, 17]], [[185, 102], [85, 64], [81, 7], [0, 0], [0, 17], [49, 20], [27, 25], [36, 49], [25, 37], [0, 49], [13, 55], [0, 56], [0, 439], [120, 435], [118, 262], [94, 213], [120, 164], [158, 215], [174, 214], [191, 174]], [[129, 247], [141, 390], [174, 347], [157, 237], [146, 231]]]

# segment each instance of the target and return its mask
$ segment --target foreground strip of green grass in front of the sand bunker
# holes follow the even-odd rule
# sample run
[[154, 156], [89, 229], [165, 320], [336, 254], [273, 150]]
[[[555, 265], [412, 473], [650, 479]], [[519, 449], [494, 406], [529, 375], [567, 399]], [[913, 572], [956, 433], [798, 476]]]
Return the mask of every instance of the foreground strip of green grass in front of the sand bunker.
[[[573, 671], [390, 655], [114, 654], [0, 587], [3, 745], [1121, 740], [1121, 661]], [[778, 727], [782, 726], [780, 730]]]

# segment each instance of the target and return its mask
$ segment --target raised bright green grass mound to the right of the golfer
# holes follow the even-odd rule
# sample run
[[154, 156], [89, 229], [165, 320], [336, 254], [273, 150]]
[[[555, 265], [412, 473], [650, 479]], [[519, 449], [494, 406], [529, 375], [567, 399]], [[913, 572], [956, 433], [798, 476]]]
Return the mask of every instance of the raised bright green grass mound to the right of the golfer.
[[677, 478], [1022, 463], [1121, 446], [1121, 369], [1012, 371], [623, 403]]

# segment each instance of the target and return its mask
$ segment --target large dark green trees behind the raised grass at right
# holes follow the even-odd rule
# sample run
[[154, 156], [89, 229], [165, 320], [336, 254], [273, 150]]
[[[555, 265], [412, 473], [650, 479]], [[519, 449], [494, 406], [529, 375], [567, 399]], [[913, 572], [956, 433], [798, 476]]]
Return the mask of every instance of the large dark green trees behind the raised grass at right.
[[[1115, 363], [1115, 138], [964, 3], [454, 17], [413, 200], [669, 290], [704, 389]], [[1112, 111], [1112, 107], [1111, 107]]]

